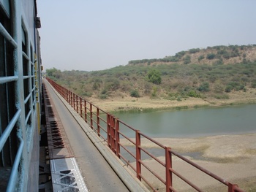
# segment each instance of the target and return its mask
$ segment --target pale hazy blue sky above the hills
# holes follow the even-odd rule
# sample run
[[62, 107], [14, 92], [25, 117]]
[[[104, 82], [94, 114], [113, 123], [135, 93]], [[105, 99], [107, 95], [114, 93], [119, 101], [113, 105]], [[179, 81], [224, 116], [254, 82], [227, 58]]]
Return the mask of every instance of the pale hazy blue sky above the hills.
[[255, 0], [37, 0], [37, 9], [45, 69], [96, 71], [256, 44]]

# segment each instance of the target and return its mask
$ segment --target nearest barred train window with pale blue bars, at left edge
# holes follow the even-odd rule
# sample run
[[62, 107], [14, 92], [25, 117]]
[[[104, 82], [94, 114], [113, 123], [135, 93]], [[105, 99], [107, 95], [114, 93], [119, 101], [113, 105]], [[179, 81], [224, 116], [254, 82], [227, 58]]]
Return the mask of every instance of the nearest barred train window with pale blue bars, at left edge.
[[[18, 153], [17, 122], [20, 110], [16, 107], [15, 94], [18, 77], [15, 76], [14, 50], [12, 39], [12, 18], [9, 1], [0, 6], [0, 191], [4, 191]], [[9, 13], [9, 15], [7, 14]], [[17, 159], [17, 160], [16, 160]]]

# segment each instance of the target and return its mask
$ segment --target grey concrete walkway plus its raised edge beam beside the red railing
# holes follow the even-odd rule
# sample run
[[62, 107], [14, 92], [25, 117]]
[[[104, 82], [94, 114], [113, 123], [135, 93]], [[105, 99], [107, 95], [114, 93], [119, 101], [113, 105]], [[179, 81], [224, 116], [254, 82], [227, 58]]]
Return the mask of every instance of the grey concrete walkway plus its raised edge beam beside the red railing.
[[96, 134], [46, 80], [45, 86], [58, 111], [89, 191], [147, 191], [145, 186], [118, 164], [118, 160], [110, 155]]

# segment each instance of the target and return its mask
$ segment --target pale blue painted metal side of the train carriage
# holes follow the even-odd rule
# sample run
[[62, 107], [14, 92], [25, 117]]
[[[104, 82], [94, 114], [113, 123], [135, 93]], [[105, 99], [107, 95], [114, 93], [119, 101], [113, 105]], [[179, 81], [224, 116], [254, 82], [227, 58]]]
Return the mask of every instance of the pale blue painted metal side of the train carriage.
[[[10, 4], [9, 4], [10, 2]], [[10, 145], [10, 152], [15, 150], [12, 172], [10, 174], [9, 183], [7, 185], [7, 191], [31, 191], [31, 185], [33, 185], [33, 191], [38, 191], [38, 177], [39, 172], [35, 167], [39, 166], [39, 161], [34, 164], [31, 162], [32, 150], [38, 150], [37, 155], [39, 160], [39, 126], [40, 126], [40, 78], [41, 78], [41, 58], [35, 64], [35, 58], [39, 53], [39, 34], [34, 26], [34, 20], [36, 20], [36, 7], [35, 0], [0, 0], [0, 7], [4, 7], [7, 18], [12, 20], [9, 23], [12, 31], [7, 29], [0, 23], [0, 34], [4, 37], [4, 44], [0, 46], [6, 46], [6, 43], [10, 43], [13, 51], [12, 63], [13, 67], [10, 68], [8, 61], [4, 61], [4, 67], [11, 71], [14, 75], [0, 77], [0, 84], [13, 89], [13, 98], [8, 93], [6, 94], [7, 104], [6, 108], [1, 108], [1, 112], [7, 113], [7, 127], [1, 127], [0, 129], [0, 150], [3, 150], [5, 145]], [[10, 11], [11, 10], [11, 11]], [[8, 11], [8, 12], [7, 12]], [[7, 20], [7, 22], [10, 22]], [[37, 33], [35, 33], [35, 31]], [[25, 50], [23, 44], [26, 45]], [[38, 50], [37, 50], [38, 49]], [[4, 48], [4, 57], [7, 57], [7, 47]], [[23, 65], [23, 62], [26, 62]], [[24, 67], [25, 66], [25, 67]], [[37, 69], [36, 69], [37, 68]], [[25, 72], [25, 73], [23, 73]], [[36, 76], [37, 74], [37, 76]], [[26, 86], [24, 86], [24, 80], [26, 80]], [[39, 82], [39, 83], [36, 83]], [[9, 82], [15, 82], [14, 84], [7, 84]], [[24, 98], [24, 89], [26, 89]], [[15, 102], [16, 112], [12, 114], [9, 110], [9, 102]], [[5, 117], [5, 116], [4, 116]], [[0, 117], [1, 120], [1, 117]], [[15, 129], [14, 129], [15, 128]], [[11, 133], [17, 128], [17, 137], [11, 137]], [[37, 129], [38, 128], [38, 129]], [[38, 130], [38, 131], [37, 131]], [[8, 142], [10, 139], [17, 140], [19, 143], [18, 149], [15, 146], [11, 146], [12, 143]], [[16, 149], [15, 149], [16, 148]], [[7, 154], [8, 155], [8, 154]], [[38, 164], [38, 165], [37, 165]], [[34, 169], [31, 169], [31, 166]], [[20, 169], [18, 169], [20, 167]], [[0, 175], [1, 179], [1, 175]], [[36, 182], [36, 183], [31, 183]], [[30, 186], [29, 186], [30, 185]]]

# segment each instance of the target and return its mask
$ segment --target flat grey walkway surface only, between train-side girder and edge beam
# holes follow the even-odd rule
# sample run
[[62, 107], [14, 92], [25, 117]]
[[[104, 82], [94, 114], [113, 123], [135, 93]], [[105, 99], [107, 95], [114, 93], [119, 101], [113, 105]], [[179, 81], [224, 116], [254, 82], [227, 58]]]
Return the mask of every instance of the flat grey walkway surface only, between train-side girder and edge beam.
[[45, 81], [89, 191], [129, 191]]

